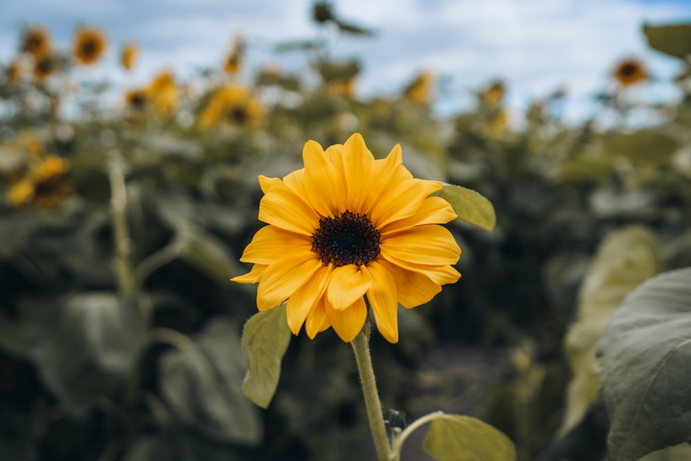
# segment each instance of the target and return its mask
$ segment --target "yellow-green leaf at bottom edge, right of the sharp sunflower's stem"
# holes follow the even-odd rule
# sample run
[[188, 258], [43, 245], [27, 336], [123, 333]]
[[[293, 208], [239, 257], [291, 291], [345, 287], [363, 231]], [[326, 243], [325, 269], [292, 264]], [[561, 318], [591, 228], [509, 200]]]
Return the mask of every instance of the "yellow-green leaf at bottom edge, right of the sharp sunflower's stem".
[[437, 461], [513, 461], [513, 442], [493, 426], [464, 415], [440, 413], [423, 442]]

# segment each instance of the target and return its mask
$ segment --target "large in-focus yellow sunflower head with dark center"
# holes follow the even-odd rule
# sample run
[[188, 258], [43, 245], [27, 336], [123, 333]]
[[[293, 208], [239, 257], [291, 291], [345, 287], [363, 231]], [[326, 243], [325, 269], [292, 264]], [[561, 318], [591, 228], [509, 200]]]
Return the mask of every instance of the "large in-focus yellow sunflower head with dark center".
[[359, 133], [324, 151], [308, 141], [305, 168], [283, 180], [259, 176], [259, 229], [233, 281], [259, 283], [257, 307], [287, 299], [287, 323], [307, 336], [333, 327], [343, 341], [363, 328], [368, 304], [381, 335], [398, 341], [398, 305], [415, 308], [460, 274], [460, 247], [438, 225], [456, 218], [429, 197], [442, 182], [413, 178], [401, 147], [375, 160]]

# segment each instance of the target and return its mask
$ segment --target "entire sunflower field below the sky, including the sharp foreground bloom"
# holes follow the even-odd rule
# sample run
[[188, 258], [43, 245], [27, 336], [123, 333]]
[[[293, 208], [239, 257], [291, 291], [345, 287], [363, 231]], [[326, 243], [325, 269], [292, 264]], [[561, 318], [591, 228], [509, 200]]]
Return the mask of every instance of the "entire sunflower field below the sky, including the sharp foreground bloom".
[[500, 81], [451, 117], [428, 72], [358, 97], [321, 41], [276, 44], [296, 73], [238, 35], [120, 88], [82, 70], [136, 41], [27, 26], [0, 62], [0, 460], [691, 459], [691, 23], [641, 33], [681, 99], [636, 100], [626, 59], [609, 122], [574, 125], [561, 91], [514, 123]]

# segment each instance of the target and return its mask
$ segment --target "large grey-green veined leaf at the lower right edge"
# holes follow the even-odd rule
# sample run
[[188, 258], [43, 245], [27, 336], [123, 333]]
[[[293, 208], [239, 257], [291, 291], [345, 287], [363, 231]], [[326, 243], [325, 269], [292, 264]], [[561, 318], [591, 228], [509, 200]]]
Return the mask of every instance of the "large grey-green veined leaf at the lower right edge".
[[636, 288], [600, 344], [611, 461], [691, 442], [691, 268]]

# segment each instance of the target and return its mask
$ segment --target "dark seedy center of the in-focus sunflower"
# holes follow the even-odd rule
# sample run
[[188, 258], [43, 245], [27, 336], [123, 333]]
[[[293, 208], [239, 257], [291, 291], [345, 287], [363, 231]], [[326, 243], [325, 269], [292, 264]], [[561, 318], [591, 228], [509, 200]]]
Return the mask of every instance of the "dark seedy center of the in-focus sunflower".
[[319, 220], [319, 228], [312, 234], [312, 251], [324, 264], [363, 265], [379, 256], [380, 236], [366, 215], [343, 211], [341, 216]]

